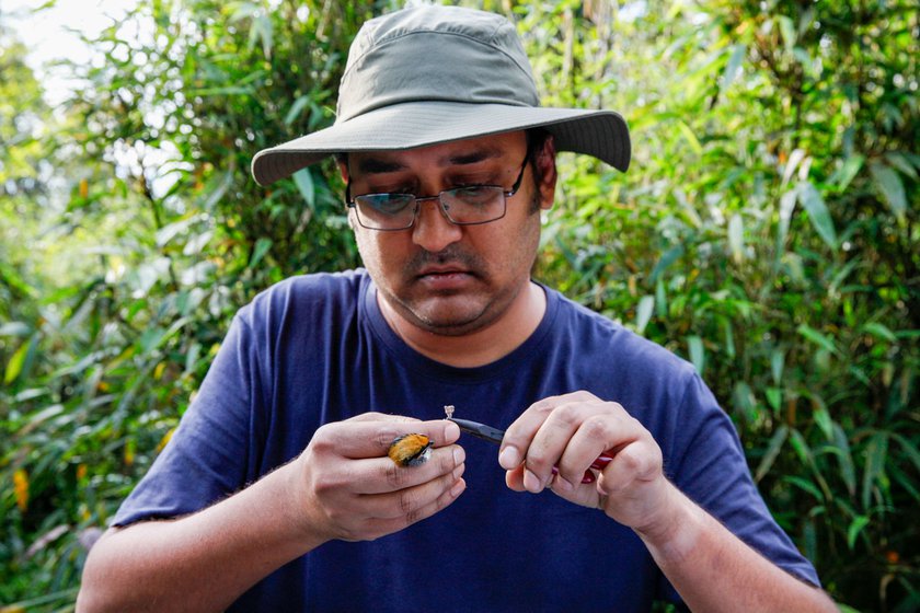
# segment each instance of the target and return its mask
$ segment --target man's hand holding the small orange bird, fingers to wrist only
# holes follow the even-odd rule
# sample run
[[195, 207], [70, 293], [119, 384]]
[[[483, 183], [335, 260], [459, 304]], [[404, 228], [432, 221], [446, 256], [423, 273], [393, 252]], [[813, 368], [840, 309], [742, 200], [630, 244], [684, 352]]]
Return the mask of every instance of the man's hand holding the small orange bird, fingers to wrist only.
[[[421, 466], [398, 466], [387, 456], [393, 439], [407, 432], [434, 442]], [[295, 461], [295, 521], [325, 540], [370, 541], [435, 514], [465, 488], [465, 454], [452, 444], [459, 437], [444, 419], [379, 413], [321, 427]]]

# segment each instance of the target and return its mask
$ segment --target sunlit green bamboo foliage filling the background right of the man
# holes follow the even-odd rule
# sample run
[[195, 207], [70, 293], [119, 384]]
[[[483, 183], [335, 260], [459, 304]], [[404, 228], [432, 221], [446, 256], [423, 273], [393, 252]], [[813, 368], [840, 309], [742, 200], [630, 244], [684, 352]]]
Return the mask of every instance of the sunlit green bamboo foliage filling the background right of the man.
[[522, 13], [551, 104], [624, 109], [636, 143], [622, 180], [562, 173], [541, 275], [697, 366], [833, 595], [916, 609], [916, 8]]

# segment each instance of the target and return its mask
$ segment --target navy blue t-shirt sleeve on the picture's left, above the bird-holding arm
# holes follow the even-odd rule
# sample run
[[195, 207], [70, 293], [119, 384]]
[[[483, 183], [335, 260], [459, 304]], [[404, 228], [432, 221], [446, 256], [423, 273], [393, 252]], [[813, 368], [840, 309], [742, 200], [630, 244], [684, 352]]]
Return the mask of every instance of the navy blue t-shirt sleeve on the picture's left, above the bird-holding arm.
[[255, 354], [241, 311], [170, 442], [122, 504], [113, 525], [188, 514], [245, 485], [257, 396]]

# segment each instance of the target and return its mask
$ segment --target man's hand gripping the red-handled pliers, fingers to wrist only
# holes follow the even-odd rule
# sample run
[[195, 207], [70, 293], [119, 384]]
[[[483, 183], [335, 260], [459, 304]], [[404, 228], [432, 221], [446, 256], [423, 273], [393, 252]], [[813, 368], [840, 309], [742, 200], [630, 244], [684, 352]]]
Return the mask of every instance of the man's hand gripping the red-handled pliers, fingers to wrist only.
[[[583, 484], [585, 471], [605, 451], [613, 459], [596, 483]], [[621, 405], [588, 392], [531, 405], [505, 432], [498, 463], [517, 491], [550, 487], [640, 532], [667, 523], [672, 486], [662, 471], [660, 448]]]

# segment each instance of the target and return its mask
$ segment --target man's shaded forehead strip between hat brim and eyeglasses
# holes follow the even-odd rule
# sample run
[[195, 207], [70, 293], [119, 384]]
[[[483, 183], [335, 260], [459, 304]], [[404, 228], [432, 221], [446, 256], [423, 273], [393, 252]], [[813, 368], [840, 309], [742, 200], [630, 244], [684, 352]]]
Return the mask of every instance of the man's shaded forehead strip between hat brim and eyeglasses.
[[353, 172], [384, 173], [426, 166], [475, 164], [487, 160], [504, 161], [522, 155], [526, 147], [527, 138], [520, 130], [402, 151], [353, 152], [348, 158]]

